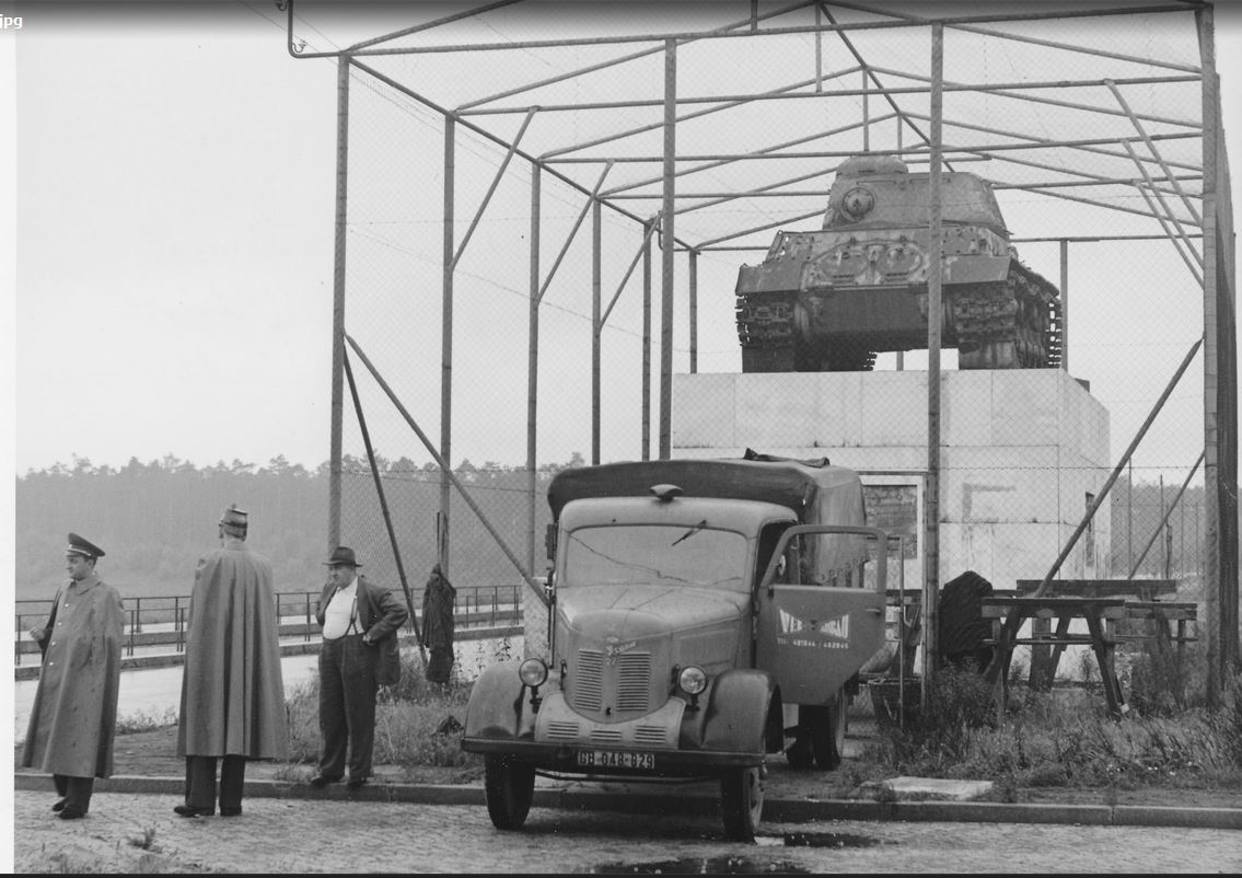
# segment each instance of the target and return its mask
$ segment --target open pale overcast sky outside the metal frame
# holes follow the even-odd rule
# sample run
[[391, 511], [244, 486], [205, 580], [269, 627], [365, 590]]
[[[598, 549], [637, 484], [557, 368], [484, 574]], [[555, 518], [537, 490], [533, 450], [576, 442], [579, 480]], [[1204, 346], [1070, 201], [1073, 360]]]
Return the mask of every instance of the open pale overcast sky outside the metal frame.
[[[335, 65], [291, 58], [271, 0], [161, 6], [83, 26], [22, 4], [0, 32], [19, 476], [328, 458]], [[1217, 24], [1235, 180], [1238, 20]]]

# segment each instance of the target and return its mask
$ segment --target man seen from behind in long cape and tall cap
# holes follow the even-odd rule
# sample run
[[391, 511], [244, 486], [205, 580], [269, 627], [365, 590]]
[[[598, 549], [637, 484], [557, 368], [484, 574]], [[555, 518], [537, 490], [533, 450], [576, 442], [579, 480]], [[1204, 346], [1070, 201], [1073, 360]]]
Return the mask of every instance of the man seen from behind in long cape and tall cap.
[[247, 759], [287, 759], [272, 564], [246, 548], [248, 513], [220, 518], [221, 546], [199, 559], [181, 678], [176, 755], [185, 758], [183, 817], [241, 813]]

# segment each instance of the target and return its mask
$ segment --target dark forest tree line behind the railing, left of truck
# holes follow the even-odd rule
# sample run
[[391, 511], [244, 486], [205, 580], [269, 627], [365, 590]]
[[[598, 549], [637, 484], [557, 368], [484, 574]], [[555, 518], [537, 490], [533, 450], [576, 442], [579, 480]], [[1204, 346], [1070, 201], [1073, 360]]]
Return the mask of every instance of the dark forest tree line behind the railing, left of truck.
[[[546, 517], [545, 494], [551, 477], [582, 463], [575, 453], [565, 463], [539, 467], [537, 514]], [[363, 573], [396, 587], [397, 571], [374, 487], [375, 473], [384, 486], [401, 554], [409, 553], [407, 579], [421, 594], [422, 580], [435, 560], [440, 468], [376, 455], [373, 472], [365, 457], [342, 458], [342, 543], [359, 551]], [[501, 523], [507, 543], [523, 539], [529, 519], [525, 468], [491, 461], [474, 466], [466, 459], [453, 474], [484, 514]], [[262, 466], [235, 459], [197, 467], [169, 455], [147, 463], [130, 458], [119, 468], [97, 467], [75, 457], [72, 464], [30, 469], [16, 479], [16, 599], [40, 600], [55, 592], [65, 579], [70, 532], [107, 553], [99, 561], [101, 576], [122, 596], [189, 595], [197, 559], [219, 545], [220, 514], [231, 503], [250, 513], [247, 544], [272, 561], [277, 590], [318, 590], [325, 580], [323, 561], [330, 550], [329, 478], [328, 462], [308, 469], [283, 456]], [[512, 563], [491, 548], [494, 540], [456, 489], [451, 494], [452, 551], [461, 546], [461, 575], [472, 584], [518, 581]]]

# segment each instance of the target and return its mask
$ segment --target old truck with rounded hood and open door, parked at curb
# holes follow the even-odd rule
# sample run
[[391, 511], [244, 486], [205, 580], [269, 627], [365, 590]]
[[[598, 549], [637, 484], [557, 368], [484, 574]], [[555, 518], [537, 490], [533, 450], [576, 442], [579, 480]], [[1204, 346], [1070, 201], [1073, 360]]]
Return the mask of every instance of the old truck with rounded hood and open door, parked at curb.
[[826, 458], [565, 469], [548, 488], [546, 649], [483, 669], [461, 748], [520, 830], [537, 774], [719, 785], [753, 840], [768, 760], [836, 769], [858, 671], [883, 646], [888, 538]]

